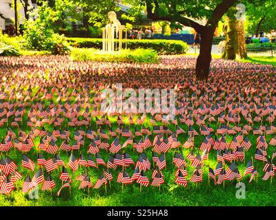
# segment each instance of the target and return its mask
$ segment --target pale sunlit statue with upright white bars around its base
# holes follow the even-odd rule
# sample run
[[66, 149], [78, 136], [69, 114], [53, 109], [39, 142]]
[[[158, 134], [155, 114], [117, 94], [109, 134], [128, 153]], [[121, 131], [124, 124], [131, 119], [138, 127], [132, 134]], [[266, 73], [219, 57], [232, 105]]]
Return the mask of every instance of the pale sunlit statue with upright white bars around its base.
[[[110, 23], [106, 25], [106, 28], [103, 28], [103, 51], [115, 52], [122, 49], [123, 31], [126, 31], [126, 28], [124, 25], [121, 25], [115, 12], [108, 12], [108, 19], [110, 20]], [[118, 48], [115, 39], [119, 40]]]

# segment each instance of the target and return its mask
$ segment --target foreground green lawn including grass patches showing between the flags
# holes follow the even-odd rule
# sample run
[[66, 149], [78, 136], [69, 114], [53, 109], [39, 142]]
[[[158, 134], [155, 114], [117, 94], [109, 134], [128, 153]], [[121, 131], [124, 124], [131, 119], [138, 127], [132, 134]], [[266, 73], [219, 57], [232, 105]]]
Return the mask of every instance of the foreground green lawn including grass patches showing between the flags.
[[[27, 115], [25, 115], [25, 119]], [[110, 118], [112, 123], [112, 127], [115, 126], [114, 119]], [[64, 122], [65, 123], [65, 122]], [[146, 121], [146, 125], [148, 125], [148, 120]], [[216, 127], [216, 123], [212, 123], [211, 126], [213, 128]], [[256, 123], [257, 125], [257, 123]], [[66, 124], [63, 124], [66, 126]], [[23, 129], [27, 129], [26, 120], [23, 122]], [[181, 127], [187, 131], [186, 124], [181, 124]], [[199, 126], [194, 126], [197, 131], [199, 131]], [[134, 127], [130, 126], [133, 130]], [[169, 126], [172, 131], [175, 131], [175, 126]], [[53, 126], [47, 126], [46, 129], [48, 131], [53, 130]], [[86, 129], [83, 127], [83, 129]], [[95, 123], [92, 125], [92, 129], [96, 129]], [[14, 129], [17, 132], [17, 129]], [[74, 136], [74, 130], [70, 129], [71, 135], [70, 137]], [[6, 128], [0, 129], [0, 135], [6, 134]], [[230, 142], [232, 140], [232, 135], [227, 135], [227, 141]], [[244, 174], [244, 170], [246, 168], [246, 163], [250, 159], [250, 157], [254, 156], [255, 153], [255, 146], [256, 146], [256, 139], [258, 135], [253, 135], [250, 133], [250, 142], [253, 144], [248, 152], [246, 152], [246, 159], [244, 162], [238, 162], [237, 167], [239, 168], [239, 172]], [[273, 135], [266, 135], [267, 142]], [[180, 134], [179, 141], [181, 143], [185, 142], [188, 138], [188, 134]], [[204, 136], [196, 136], [195, 137], [195, 149], [198, 149]], [[72, 140], [73, 138], [71, 138]], [[123, 144], [126, 141], [127, 137], [121, 137], [120, 142]], [[152, 137], [151, 137], [152, 140]], [[111, 143], [112, 140], [109, 141]], [[28, 155], [30, 158], [35, 162], [37, 158], [37, 146], [39, 144], [39, 137], [36, 137], [34, 141], [35, 147], [32, 148]], [[61, 140], [58, 139], [57, 141], [58, 146], [61, 144]], [[88, 145], [90, 142], [86, 138], [84, 148], [81, 148], [83, 153], [86, 155]], [[130, 157], [136, 162], [137, 161], [137, 153], [133, 151], [132, 146], [128, 146], [124, 148], [124, 151], [130, 154]], [[188, 149], [182, 149], [181, 151], [184, 152], [184, 156], [188, 154]], [[196, 151], [197, 152], [197, 151]], [[268, 147], [268, 155], [272, 155], [273, 148], [271, 146]], [[48, 158], [52, 157], [48, 153], [42, 152], [44, 156]], [[210, 185], [208, 184], [208, 166], [215, 168], [217, 161], [216, 161], [216, 152], [211, 151], [209, 154], [208, 161], [204, 162], [205, 166], [203, 168], [204, 175], [203, 175], [203, 182], [199, 184], [193, 184], [188, 182], [188, 187], [177, 186], [174, 183], [175, 177], [175, 166], [172, 164], [172, 157], [174, 154], [174, 150], [171, 149], [169, 153], [166, 154], [166, 162], [167, 168], [162, 170], [164, 173], [165, 184], [159, 188], [150, 186], [148, 188], [142, 186], [141, 192], [139, 191], [139, 184], [133, 183], [132, 185], [124, 186], [124, 190], [121, 188], [121, 184], [117, 183], [117, 174], [120, 172], [121, 169], [117, 168], [117, 170], [112, 170], [113, 180], [111, 181], [111, 188], [107, 186], [107, 193], [104, 186], [101, 186], [99, 189], [90, 189], [88, 190], [81, 190], [79, 189], [80, 181], [76, 181], [75, 178], [80, 175], [81, 173], [85, 172], [85, 169], [79, 167], [77, 172], [72, 172], [70, 168], [67, 166], [68, 160], [70, 157], [70, 153], [66, 153], [64, 151], [59, 151], [61, 159], [66, 163], [66, 168], [68, 173], [72, 177], [72, 196], [70, 196], [68, 188], [65, 188], [61, 193], [61, 197], [57, 197], [57, 190], [61, 187], [61, 180], [59, 179], [59, 173], [61, 170], [54, 170], [51, 173], [52, 179], [56, 182], [57, 186], [53, 189], [52, 194], [50, 191], [42, 191], [39, 190], [39, 199], [32, 200], [28, 199], [28, 194], [23, 193], [21, 191], [21, 186], [23, 184], [23, 179], [26, 175], [32, 175], [34, 172], [21, 167], [21, 153], [19, 151], [14, 151], [13, 149], [10, 150], [8, 155], [11, 159], [17, 162], [19, 168], [19, 172], [23, 175], [23, 178], [17, 181], [15, 184], [16, 188], [12, 191], [10, 195], [0, 195], [0, 206], [275, 206], [276, 201], [276, 191], [275, 187], [275, 180], [273, 179], [272, 183], [270, 183], [270, 179], [268, 181], [263, 181], [261, 178], [264, 176], [262, 172], [262, 168], [264, 166], [264, 162], [259, 162], [254, 160], [254, 165], [257, 166], [259, 177], [258, 181], [253, 181], [250, 184], [248, 183], [248, 179], [250, 175], [243, 177], [242, 182], [244, 182], [246, 186], [246, 198], [245, 199], [237, 199], [236, 198], [236, 191], [235, 188], [237, 182], [236, 181], [226, 181], [225, 187], [223, 184], [219, 186], [215, 186], [213, 184], [213, 180], [210, 179]], [[75, 151], [75, 156], [78, 158], [79, 152]], [[101, 157], [105, 160], [108, 160], [108, 153], [106, 151], [100, 150]], [[150, 161], [152, 161], [151, 157], [151, 149], [148, 148], [146, 150], [146, 154]], [[188, 164], [188, 177], [186, 179], [190, 179], [194, 168], [190, 166], [190, 162], [186, 159]], [[99, 175], [103, 172], [103, 166], [96, 168], [88, 168], [88, 174], [90, 175], [90, 179], [92, 184], [94, 185], [97, 181]], [[35, 170], [38, 170], [36, 168]], [[128, 174], [132, 176], [134, 172], [134, 166], [130, 166], [130, 168], [126, 168]], [[44, 169], [44, 172], [46, 170]], [[146, 175], [149, 179], [151, 179], [151, 172], [147, 171]], [[45, 173], [45, 177], [46, 177]], [[39, 186], [41, 188], [41, 185]]]

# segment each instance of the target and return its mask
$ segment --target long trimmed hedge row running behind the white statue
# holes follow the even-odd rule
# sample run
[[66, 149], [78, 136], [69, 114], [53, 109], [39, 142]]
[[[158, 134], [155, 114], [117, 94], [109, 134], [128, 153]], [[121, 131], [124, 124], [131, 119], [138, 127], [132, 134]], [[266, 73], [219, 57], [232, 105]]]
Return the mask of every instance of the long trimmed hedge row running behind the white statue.
[[[81, 39], [81, 38], [68, 38], [68, 42], [73, 47], [79, 48], [95, 48], [102, 49], [102, 39]], [[183, 41], [172, 40], [123, 40], [123, 47], [130, 50], [151, 49], [158, 52], [158, 54], [184, 54], [188, 50], [187, 43]]]

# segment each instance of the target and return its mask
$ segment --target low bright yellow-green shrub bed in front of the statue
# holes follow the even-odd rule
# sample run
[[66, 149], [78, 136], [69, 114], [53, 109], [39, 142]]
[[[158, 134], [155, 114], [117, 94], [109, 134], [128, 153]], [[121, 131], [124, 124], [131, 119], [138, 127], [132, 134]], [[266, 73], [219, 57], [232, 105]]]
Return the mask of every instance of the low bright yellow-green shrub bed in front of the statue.
[[108, 62], [134, 62], [157, 63], [157, 52], [150, 49], [121, 50], [112, 54], [96, 49], [75, 48], [71, 52], [74, 61], [108, 61]]

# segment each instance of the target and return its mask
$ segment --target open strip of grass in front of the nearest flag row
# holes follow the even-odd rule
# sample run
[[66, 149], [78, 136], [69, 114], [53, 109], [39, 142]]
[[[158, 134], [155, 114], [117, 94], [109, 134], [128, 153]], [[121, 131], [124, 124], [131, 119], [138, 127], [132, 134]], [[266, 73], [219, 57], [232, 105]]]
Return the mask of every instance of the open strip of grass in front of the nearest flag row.
[[[68, 189], [64, 189], [68, 190]], [[51, 196], [50, 192], [39, 191], [39, 199], [26, 199], [23, 192], [12, 193], [8, 198], [0, 197], [1, 206], [275, 206], [275, 190], [273, 186], [248, 186], [246, 198], [235, 197], [237, 188], [233, 184], [213, 188], [208, 186], [178, 187], [173, 192], [166, 188], [143, 188], [127, 186], [124, 191], [108, 189], [108, 195], [103, 189], [98, 192], [90, 190], [83, 192], [72, 190], [74, 196], [63, 199]], [[64, 194], [65, 192], [63, 192]], [[66, 191], [68, 194], [68, 191]]]

